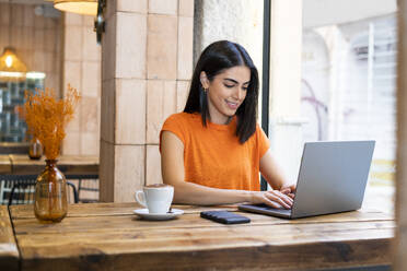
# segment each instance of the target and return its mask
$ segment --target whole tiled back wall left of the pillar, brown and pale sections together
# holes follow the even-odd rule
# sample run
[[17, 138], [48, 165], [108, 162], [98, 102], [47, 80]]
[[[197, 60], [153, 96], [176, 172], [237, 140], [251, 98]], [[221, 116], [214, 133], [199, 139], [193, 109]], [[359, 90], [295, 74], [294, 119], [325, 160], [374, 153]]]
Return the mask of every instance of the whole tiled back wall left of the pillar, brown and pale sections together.
[[93, 17], [72, 13], [44, 17], [35, 15], [34, 9], [34, 4], [13, 3], [10, 14], [9, 3], [0, 3], [0, 54], [13, 46], [28, 71], [45, 72], [45, 87], [59, 95], [68, 83], [80, 91], [82, 99], [67, 127], [62, 154], [98, 155], [101, 47]]

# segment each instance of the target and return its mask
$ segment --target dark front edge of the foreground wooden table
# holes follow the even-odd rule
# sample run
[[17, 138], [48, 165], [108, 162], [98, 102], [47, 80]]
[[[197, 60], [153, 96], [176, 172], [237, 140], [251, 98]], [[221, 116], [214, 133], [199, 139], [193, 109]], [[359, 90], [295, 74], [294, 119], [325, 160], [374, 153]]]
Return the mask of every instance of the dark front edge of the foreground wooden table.
[[[88, 246], [89, 247], [89, 246]], [[389, 240], [327, 241], [144, 254], [78, 250], [67, 258], [32, 258], [23, 270], [316, 270], [389, 264]]]

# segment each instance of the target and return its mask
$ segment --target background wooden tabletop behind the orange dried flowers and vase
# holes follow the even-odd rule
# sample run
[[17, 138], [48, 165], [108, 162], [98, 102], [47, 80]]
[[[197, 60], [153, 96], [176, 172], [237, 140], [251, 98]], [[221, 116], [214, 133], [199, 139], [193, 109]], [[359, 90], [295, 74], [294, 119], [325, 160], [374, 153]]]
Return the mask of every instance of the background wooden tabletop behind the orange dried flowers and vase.
[[[10, 154], [13, 174], [39, 174], [45, 167], [45, 157], [30, 160], [27, 155]], [[98, 157], [62, 155], [58, 157], [58, 168], [66, 174], [98, 174]]]

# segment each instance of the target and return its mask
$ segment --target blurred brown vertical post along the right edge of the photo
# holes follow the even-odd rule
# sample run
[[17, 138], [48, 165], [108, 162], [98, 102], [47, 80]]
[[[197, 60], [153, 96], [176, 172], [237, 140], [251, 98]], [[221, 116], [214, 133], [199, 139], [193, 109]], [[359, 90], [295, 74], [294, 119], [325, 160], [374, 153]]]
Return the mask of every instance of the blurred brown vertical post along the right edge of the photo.
[[407, 268], [407, 0], [398, 1], [398, 61], [397, 61], [397, 165], [396, 165], [396, 224], [394, 266], [397, 271]]

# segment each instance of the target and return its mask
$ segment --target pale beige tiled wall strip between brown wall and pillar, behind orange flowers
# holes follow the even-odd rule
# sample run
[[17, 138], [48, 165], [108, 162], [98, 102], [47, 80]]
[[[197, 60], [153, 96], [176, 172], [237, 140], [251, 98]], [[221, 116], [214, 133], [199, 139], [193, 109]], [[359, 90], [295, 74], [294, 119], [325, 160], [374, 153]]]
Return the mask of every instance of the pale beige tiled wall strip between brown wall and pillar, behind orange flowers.
[[93, 32], [93, 17], [63, 13], [63, 93], [70, 83], [82, 98], [67, 127], [62, 153], [98, 155], [101, 130], [101, 46]]

